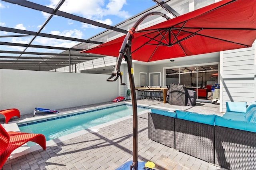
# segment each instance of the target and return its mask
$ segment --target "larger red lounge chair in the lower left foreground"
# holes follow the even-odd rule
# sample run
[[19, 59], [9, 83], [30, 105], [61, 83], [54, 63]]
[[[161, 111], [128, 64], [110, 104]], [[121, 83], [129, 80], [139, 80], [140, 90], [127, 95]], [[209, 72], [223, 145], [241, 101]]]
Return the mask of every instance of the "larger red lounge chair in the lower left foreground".
[[22, 133], [22, 132], [6, 132], [4, 127], [0, 125], [0, 169], [16, 148], [22, 146], [26, 142], [36, 142], [42, 148], [46, 149], [46, 139], [43, 134]]

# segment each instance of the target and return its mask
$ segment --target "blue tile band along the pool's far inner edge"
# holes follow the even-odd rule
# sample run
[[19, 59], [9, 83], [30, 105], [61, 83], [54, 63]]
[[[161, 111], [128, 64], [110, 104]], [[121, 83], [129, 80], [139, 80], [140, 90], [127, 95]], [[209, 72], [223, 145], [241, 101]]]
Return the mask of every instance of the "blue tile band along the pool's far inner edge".
[[[25, 127], [28, 125], [34, 125], [34, 124], [38, 124], [38, 123], [43, 123], [43, 122], [48, 122], [48, 121], [54, 121], [54, 120], [58, 120], [58, 119], [63, 119], [63, 118], [67, 118], [67, 117], [72, 117], [72, 116], [77, 116], [77, 115], [82, 115], [82, 114], [86, 114], [86, 113], [91, 113], [91, 112], [95, 112], [95, 111], [100, 111], [100, 110], [105, 110], [105, 109], [110, 109], [113, 107], [120, 107], [120, 106], [124, 106], [126, 104], [122, 104], [122, 105], [115, 105], [115, 106], [109, 106], [109, 107], [104, 107], [104, 108], [100, 108], [100, 109], [95, 109], [95, 110], [90, 110], [90, 111], [84, 111], [81, 113], [74, 113], [74, 114], [70, 114], [70, 115], [65, 115], [65, 116], [59, 116], [59, 117], [54, 117], [54, 118], [47, 118], [44, 120], [40, 120], [40, 121], [34, 121], [34, 122], [30, 122], [30, 123], [22, 123], [22, 124], [18, 124], [18, 127]], [[126, 105], [128, 107], [132, 107], [132, 105]], [[137, 106], [138, 108], [142, 108], [142, 109], [148, 109], [148, 107], [142, 107], [142, 106]]]

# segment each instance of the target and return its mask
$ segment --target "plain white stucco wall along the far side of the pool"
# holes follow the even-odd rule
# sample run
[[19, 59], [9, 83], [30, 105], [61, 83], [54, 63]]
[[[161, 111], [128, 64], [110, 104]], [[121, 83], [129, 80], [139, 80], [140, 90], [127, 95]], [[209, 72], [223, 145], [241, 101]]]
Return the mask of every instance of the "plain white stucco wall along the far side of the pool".
[[20, 114], [35, 107], [62, 109], [112, 101], [119, 96], [118, 81], [109, 75], [0, 69], [0, 110]]

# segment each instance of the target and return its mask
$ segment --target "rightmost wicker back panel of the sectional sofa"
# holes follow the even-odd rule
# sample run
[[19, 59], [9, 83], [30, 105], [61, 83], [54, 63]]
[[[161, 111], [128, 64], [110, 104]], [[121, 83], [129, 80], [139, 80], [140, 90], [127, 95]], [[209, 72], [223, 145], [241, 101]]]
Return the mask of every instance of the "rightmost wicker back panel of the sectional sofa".
[[255, 170], [256, 133], [215, 126], [215, 158], [231, 170]]

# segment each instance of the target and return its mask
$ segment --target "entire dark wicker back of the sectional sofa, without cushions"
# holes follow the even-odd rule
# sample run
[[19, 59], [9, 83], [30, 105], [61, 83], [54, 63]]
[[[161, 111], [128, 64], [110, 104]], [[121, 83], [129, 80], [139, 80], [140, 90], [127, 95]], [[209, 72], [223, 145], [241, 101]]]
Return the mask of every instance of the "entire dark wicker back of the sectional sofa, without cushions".
[[148, 113], [148, 137], [230, 170], [256, 169], [255, 132]]

